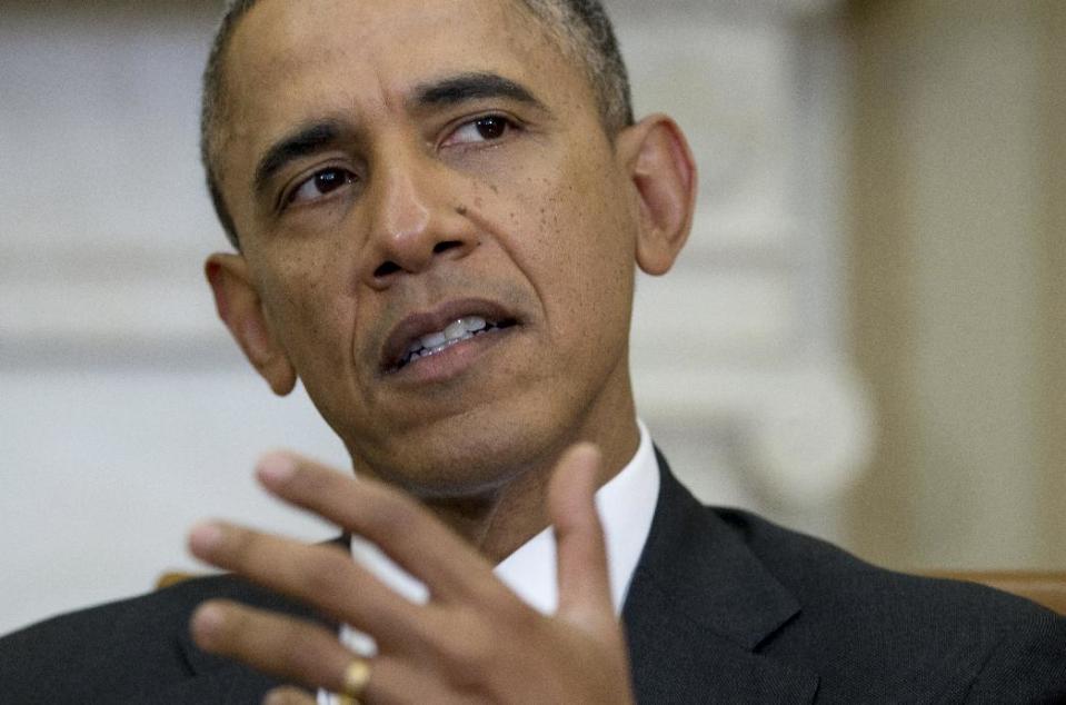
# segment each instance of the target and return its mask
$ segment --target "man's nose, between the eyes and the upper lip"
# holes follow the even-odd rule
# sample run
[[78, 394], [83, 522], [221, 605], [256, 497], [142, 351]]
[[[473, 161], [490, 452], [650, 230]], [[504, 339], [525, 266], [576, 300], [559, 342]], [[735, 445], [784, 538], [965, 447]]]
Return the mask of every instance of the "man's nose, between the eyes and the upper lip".
[[[454, 182], [430, 156], [399, 158], [393, 151], [371, 175], [370, 239], [366, 280], [383, 289], [477, 247], [477, 232]], [[373, 179], [373, 177], [377, 179]]]

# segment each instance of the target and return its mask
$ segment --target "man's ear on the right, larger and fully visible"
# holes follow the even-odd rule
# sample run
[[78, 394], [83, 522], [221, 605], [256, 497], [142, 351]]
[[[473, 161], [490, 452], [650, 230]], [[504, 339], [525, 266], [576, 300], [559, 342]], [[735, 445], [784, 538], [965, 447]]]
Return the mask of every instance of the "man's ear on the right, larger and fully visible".
[[696, 162], [681, 128], [665, 115], [652, 115], [618, 136], [640, 211], [637, 265], [664, 275], [685, 246], [696, 207]]

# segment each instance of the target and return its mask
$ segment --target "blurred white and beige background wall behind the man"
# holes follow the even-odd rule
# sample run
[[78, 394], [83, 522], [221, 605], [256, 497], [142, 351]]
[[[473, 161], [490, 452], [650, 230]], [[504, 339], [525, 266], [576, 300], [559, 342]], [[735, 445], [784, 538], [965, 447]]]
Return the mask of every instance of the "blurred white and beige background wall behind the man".
[[[677, 474], [883, 565], [1066, 568], [1066, 4], [607, 4], [701, 168], [634, 330]], [[251, 468], [342, 447], [201, 275], [220, 6], [0, 0], [0, 633], [201, 569], [203, 516], [331, 533]]]

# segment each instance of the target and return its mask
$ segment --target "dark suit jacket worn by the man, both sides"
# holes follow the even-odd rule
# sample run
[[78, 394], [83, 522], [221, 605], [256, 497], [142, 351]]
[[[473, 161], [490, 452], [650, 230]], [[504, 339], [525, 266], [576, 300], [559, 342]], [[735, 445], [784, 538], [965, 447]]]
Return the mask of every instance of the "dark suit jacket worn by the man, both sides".
[[[640, 703], [1066, 703], [1066, 619], [704, 507], [660, 465], [622, 612]], [[209, 597], [310, 616], [223, 576], [58, 617], [0, 639], [0, 703], [258, 703], [270, 679], [189, 637]]]

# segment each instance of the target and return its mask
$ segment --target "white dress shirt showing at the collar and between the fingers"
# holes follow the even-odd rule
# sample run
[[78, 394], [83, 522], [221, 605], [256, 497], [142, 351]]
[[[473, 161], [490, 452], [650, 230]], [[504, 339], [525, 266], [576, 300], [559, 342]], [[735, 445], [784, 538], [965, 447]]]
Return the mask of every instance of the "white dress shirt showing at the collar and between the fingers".
[[[640, 445], [629, 464], [596, 493], [607, 539], [607, 566], [615, 612], [620, 613], [629, 592], [634, 570], [651, 529], [651, 517], [659, 497], [659, 466], [651, 447], [651, 436], [639, 419]], [[496, 566], [496, 576], [531, 607], [555, 614], [558, 605], [555, 538], [551, 527], [522, 544]], [[377, 546], [359, 536], [351, 538], [351, 555], [372, 575], [404, 597], [425, 603], [428, 590], [420, 582], [397, 566]], [[373, 656], [373, 639], [347, 625], [341, 641], [356, 654]], [[327, 692], [319, 691], [319, 705], [336, 705]]]

